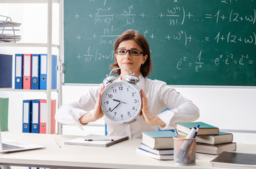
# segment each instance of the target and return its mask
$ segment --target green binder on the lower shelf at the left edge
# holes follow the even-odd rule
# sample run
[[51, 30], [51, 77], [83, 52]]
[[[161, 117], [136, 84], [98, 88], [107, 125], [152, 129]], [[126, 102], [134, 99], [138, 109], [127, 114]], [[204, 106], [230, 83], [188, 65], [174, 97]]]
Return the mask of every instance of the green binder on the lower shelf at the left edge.
[[0, 127], [1, 131], [8, 130], [8, 98], [0, 98]]

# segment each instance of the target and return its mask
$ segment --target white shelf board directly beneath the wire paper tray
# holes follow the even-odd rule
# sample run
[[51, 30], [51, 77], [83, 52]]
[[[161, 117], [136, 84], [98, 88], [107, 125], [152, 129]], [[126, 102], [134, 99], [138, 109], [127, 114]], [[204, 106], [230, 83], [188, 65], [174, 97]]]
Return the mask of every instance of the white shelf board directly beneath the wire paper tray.
[[[48, 47], [48, 44], [47, 43], [0, 43], [0, 46], [4, 46], [4, 47]], [[52, 47], [59, 48], [59, 45], [52, 44]]]

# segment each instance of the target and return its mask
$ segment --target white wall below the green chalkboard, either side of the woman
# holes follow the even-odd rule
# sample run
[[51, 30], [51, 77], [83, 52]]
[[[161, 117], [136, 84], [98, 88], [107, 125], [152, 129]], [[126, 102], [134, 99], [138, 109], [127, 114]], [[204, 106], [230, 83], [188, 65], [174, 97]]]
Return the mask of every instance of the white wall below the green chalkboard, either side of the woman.
[[[88, 86], [64, 86], [63, 104], [78, 99], [86, 88]], [[256, 89], [219, 87], [175, 87], [175, 89], [197, 105], [200, 110], [200, 118], [197, 121], [219, 127], [222, 131], [254, 130], [255, 132]], [[100, 123], [103, 123], [103, 121], [97, 122], [97, 124]], [[76, 133], [83, 134], [87, 132], [77, 130]], [[256, 142], [256, 133], [233, 132], [233, 134], [234, 142]]]

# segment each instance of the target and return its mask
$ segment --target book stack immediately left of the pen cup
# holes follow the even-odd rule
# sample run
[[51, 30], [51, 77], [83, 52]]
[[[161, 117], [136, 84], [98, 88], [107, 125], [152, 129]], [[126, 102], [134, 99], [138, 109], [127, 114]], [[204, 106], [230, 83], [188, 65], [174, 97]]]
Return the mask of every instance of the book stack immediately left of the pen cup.
[[173, 137], [176, 136], [171, 131], [142, 132], [141, 147], [136, 151], [158, 160], [173, 160]]

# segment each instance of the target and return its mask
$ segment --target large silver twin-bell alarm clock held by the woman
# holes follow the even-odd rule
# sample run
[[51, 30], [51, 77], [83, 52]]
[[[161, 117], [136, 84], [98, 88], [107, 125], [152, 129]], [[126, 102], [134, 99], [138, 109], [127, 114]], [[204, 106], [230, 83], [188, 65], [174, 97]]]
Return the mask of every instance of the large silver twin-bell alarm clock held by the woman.
[[[121, 68], [113, 70], [116, 69]], [[131, 75], [127, 75], [124, 80], [110, 75], [103, 80], [105, 89], [101, 94], [100, 106], [104, 115], [115, 123], [132, 123], [140, 117], [141, 92], [137, 84], [139, 77], [132, 74], [130, 70], [129, 73]]]

